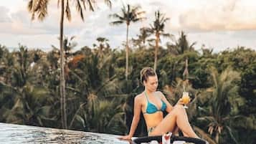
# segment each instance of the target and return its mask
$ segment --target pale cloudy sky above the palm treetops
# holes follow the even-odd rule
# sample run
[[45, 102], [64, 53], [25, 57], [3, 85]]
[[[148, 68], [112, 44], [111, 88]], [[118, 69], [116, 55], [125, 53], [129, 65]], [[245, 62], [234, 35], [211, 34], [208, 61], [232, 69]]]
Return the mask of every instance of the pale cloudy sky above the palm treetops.
[[[72, 1], [72, 0], [71, 0]], [[153, 23], [154, 12], [160, 10], [170, 20], [165, 32], [179, 38], [181, 31], [187, 35], [189, 43], [196, 42], [195, 49], [202, 45], [214, 52], [243, 46], [256, 50], [256, 1], [255, 0], [112, 0], [112, 9], [98, 0], [95, 11], [85, 12], [85, 21], [71, 9], [72, 21], [65, 20], [64, 34], [75, 36], [75, 49], [92, 47], [98, 37], [109, 39], [113, 48], [122, 47], [126, 26], [110, 25], [109, 14], [120, 14], [123, 4], [141, 6], [147, 19], [130, 26], [130, 39], [136, 38], [141, 27]], [[29, 49], [49, 51], [51, 45], [59, 47], [60, 9], [57, 0], [49, 1], [48, 16], [44, 21], [31, 21], [27, 11], [28, 0], [1, 0], [0, 2], [0, 44], [9, 49], [19, 44]], [[71, 2], [70, 6], [75, 8]], [[165, 39], [170, 41], [169, 39]], [[163, 47], [165, 42], [161, 43]]]

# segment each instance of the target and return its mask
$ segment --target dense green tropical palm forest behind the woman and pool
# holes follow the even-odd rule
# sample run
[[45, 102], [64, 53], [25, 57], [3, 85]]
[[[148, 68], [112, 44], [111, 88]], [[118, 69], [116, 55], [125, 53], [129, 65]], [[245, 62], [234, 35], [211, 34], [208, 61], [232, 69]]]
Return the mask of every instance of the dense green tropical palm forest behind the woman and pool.
[[[30, 7], [32, 17], [47, 14], [41, 6], [47, 3]], [[127, 9], [123, 7], [123, 14]], [[111, 47], [105, 37], [77, 51], [75, 37], [60, 39], [63, 49], [52, 46], [50, 52], [21, 44], [9, 52], [0, 45], [0, 121], [62, 128], [65, 103], [67, 128], [123, 135], [131, 126], [134, 97], [143, 90], [139, 72], [155, 67], [158, 89], [171, 104], [184, 89], [190, 93], [189, 120], [202, 138], [219, 144], [256, 143], [255, 50], [234, 47], [214, 52], [204, 46], [195, 50], [198, 46], [185, 32], [158, 47], [160, 36], [171, 34], [163, 29], [169, 18], [160, 11], [155, 18], [129, 43], [128, 80], [127, 50]], [[65, 102], [60, 97], [61, 53]], [[142, 135], [146, 135], [143, 118], [135, 136]]]

